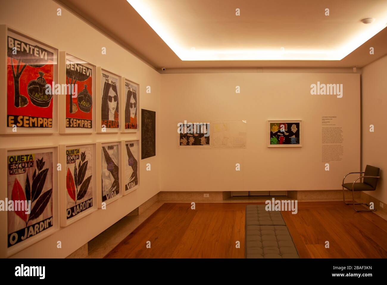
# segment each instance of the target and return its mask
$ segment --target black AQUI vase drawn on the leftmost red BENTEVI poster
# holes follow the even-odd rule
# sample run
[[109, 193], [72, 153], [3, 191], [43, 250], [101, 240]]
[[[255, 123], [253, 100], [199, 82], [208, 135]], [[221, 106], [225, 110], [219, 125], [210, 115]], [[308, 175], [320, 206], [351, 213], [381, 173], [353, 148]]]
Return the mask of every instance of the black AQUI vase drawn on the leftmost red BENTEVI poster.
[[39, 77], [36, 80], [29, 81], [27, 86], [28, 96], [31, 103], [38, 107], [48, 107], [52, 99], [52, 90], [48, 85], [43, 72], [39, 71]]

